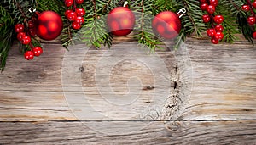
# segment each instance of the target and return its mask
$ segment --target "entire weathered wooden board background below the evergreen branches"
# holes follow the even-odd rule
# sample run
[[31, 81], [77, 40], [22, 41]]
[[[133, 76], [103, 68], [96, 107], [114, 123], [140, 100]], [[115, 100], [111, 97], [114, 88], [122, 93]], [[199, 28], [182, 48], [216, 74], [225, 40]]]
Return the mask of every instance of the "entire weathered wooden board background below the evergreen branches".
[[[147, 64], [124, 59], [111, 68], [112, 90], [103, 84], [103, 92], [99, 92], [96, 73], [107, 71], [109, 63], [101, 68], [97, 64], [108, 51], [113, 55], [107, 55], [108, 59], [129, 58], [136, 42], [126, 41], [116, 41], [111, 50], [90, 48], [80, 64], [70, 63], [74, 70], [68, 70], [68, 65], [65, 70], [62, 62], [78, 57], [72, 56], [72, 51], [67, 53], [58, 42], [44, 43], [44, 54], [32, 61], [23, 59], [15, 44], [0, 75], [0, 144], [256, 143], [255, 46], [243, 41], [212, 45], [208, 40], [189, 38], [185, 42], [187, 53], [157, 51], [166, 66], [154, 69], [161, 72], [166, 67], [170, 77], [160, 78]], [[189, 59], [179, 60], [177, 56], [182, 55]], [[137, 53], [138, 59], [143, 57], [143, 53]], [[70, 71], [66, 85], [63, 71]], [[99, 74], [102, 81], [108, 77]], [[141, 83], [132, 83], [132, 76]], [[163, 78], [170, 84], [155, 84], [155, 79]], [[78, 81], [80, 84], [75, 84]], [[125, 96], [129, 89], [137, 90], [140, 97]], [[169, 92], [166, 100], [157, 99], [165, 95], [156, 91], [161, 89]], [[79, 111], [88, 111], [79, 108], [88, 105], [77, 98], [81, 93], [95, 108], [90, 113], [104, 114], [102, 118], [78, 118]], [[108, 94], [105, 99], [113, 103], [120, 99], [131, 104], [106, 103], [102, 93]], [[81, 101], [74, 102], [78, 103], [77, 110], [68, 104], [72, 100], [65, 98], [67, 94]]]

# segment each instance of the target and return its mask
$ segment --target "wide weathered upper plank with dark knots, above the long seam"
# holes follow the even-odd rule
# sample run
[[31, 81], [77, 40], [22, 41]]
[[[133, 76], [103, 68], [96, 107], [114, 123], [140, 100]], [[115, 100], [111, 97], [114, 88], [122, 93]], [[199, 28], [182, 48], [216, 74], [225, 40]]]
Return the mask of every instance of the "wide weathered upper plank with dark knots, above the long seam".
[[[66, 92], [67, 94], [76, 92], [74, 94], [76, 96], [81, 93], [84, 94], [85, 90], [85, 95], [90, 96], [90, 98], [87, 98], [90, 105], [92, 104], [96, 108], [96, 111], [94, 111], [96, 114], [99, 112], [109, 113], [110, 119], [102, 117], [98, 120], [256, 119], [256, 51], [252, 45], [245, 43], [236, 43], [230, 49], [230, 45], [227, 44], [212, 45], [206, 42], [196, 42], [194, 39], [186, 42], [193, 66], [193, 75], [190, 74], [190, 70], [187, 68], [189, 64], [182, 61], [187, 57], [186, 52], [176, 53], [177, 58], [175, 58], [173, 52], [159, 51], [157, 54], [166, 63], [170, 77], [160, 74], [155, 79], [164, 80], [163, 78], [165, 78], [170, 81], [170, 86], [156, 86], [151, 90], [147, 89], [147, 86], [152, 86], [154, 80], [152, 76], [155, 73], [148, 74], [150, 69], [147, 65], [133, 60], [113, 65], [112, 75], [110, 74], [112, 78], [110, 84], [113, 86], [113, 91], [118, 95], [125, 95], [128, 90], [126, 83], [129, 82], [129, 78], [137, 75], [138, 72], [142, 72], [142, 75], [138, 76], [142, 78], [143, 85], [138, 85], [137, 80], [131, 80], [130, 86], [131, 89], [141, 91], [142, 93], [139, 94], [142, 94], [143, 97], [138, 99], [138, 102], [134, 103], [133, 106], [126, 105], [127, 108], [118, 105], [113, 106], [111, 103], [106, 105], [106, 103], [103, 103], [104, 100], [102, 100], [96, 87], [96, 65], [104, 54], [106, 55], [103, 59], [108, 60], [114, 56], [114, 61], [134, 56], [134, 54], [129, 56], [129, 53], [132, 53], [131, 47], [134, 43], [128, 42], [128, 44], [122, 45], [119, 42], [115, 44], [119, 47], [113, 47], [110, 51], [108, 49], [100, 51], [90, 49], [84, 55], [81, 63], [73, 64], [74, 73], [70, 75], [70, 78], [72, 80], [74, 76], [79, 75], [81, 81], [79, 81], [79, 84], [69, 84], [67, 89], [70, 90], [66, 90]], [[78, 120], [70, 110], [65, 94], [63, 94], [61, 73], [64, 70], [62, 61], [65, 59], [66, 50], [61, 47], [61, 44], [45, 43], [44, 54], [33, 61], [23, 59], [15, 47], [18, 46], [15, 45], [10, 51], [6, 70], [0, 75], [0, 120]], [[137, 53], [137, 59], [145, 57], [144, 53]], [[73, 55], [70, 59], [78, 59], [77, 56]], [[102, 72], [107, 71], [108, 66], [111, 66], [110, 64], [114, 61], [106, 61], [106, 64], [102, 64], [105, 67], [101, 66], [100, 70]], [[179, 62], [177, 63], [177, 61]], [[148, 62], [149, 64], [154, 63], [154, 61]], [[81, 70], [82, 66], [84, 70]], [[158, 72], [161, 72], [160, 69], [160, 66], [155, 67]], [[98, 76], [101, 81], [107, 75], [99, 73]], [[194, 83], [192, 90], [190, 88], [191, 77]], [[119, 78], [119, 81], [116, 78]], [[178, 89], [174, 89], [173, 81], [176, 81], [175, 86]], [[80, 86], [82, 86], [82, 89]], [[101, 86], [100, 88], [107, 96], [110, 95], [110, 100], [115, 101], [115, 98], [111, 98], [113, 92], [108, 92], [108, 86]], [[157, 98], [153, 99], [156, 101], [154, 102], [148, 97], [157, 89], [170, 89], [169, 96], [166, 100], [159, 99], [159, 101], [162, 101], [160, 103], [157, 102]], [[158, 92], [158, 94], [161, 95], [162, 93]], [[128, 99], [128, 101], [131, 100]], [[84, 105], [83, 103], [78, 104], [80, 106]], [[105, 108], [102, 108], [102, 105]], [[150, 107], [145, 109], [145, 106]], [[150, 114], [147, 114], [148, 112]], [[92, 117], [85, 120], [94, 119]]]

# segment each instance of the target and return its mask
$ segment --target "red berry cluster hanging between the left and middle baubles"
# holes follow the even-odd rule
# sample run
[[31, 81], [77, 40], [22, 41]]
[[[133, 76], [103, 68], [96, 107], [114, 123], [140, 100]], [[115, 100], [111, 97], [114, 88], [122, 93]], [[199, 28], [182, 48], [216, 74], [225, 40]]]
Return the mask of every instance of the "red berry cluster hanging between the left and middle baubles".
[[72, 27], [75, 30], [79, 30], [84, 23], [85, 10], [84, 8], [77, 8], [76, 5], [82, 3], [84, 3], [84, 0], [65, 0], [67, 8], [71, 8], [73, 6], [73, 9], [66, 10], [65, 16], [67, 17], [67, 20], [72, 22]]

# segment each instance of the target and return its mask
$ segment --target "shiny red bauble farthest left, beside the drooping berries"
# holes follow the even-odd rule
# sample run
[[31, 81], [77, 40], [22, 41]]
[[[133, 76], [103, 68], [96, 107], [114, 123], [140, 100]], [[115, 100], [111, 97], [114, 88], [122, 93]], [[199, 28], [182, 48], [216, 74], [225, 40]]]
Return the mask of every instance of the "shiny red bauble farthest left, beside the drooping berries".
[[44, 40], [54, 40], [60, 36], [63, 29], [61, 16], [53, 11], [44, 11], [38, 14], [36, 20], [36, 34]]

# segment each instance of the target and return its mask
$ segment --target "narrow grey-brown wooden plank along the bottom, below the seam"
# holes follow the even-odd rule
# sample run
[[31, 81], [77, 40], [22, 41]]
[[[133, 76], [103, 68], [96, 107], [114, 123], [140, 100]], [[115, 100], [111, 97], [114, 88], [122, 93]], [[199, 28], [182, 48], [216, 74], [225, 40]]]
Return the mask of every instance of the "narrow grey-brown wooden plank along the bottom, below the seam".
[[[131, 127], [131, 130], [127, 126]], [[254, 144], [256, 120], [1, 122], [0, 142], [3, 144]]]

